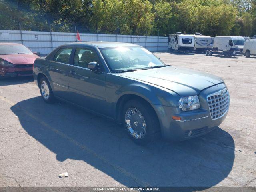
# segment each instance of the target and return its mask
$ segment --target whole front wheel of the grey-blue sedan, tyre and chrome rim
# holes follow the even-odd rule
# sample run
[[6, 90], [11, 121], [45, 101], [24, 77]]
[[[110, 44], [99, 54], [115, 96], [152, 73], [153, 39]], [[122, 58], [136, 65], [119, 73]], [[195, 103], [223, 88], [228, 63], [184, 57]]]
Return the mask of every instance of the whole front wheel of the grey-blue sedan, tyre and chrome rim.
[[123, 109], [124, 128], [137, 144], [148, 144], [159, 137], [158, 118], [152, 107], [143, 100], [130, 100]]

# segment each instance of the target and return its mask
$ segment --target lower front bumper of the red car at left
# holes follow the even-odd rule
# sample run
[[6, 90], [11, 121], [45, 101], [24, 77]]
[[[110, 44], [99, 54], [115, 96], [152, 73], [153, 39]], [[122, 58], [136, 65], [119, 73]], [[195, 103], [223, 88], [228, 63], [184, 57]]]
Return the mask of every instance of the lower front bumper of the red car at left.
[[0, 66], [0, 76], [16, 77], [16, 76], [32, 76], [33, 67], [3, 67]]

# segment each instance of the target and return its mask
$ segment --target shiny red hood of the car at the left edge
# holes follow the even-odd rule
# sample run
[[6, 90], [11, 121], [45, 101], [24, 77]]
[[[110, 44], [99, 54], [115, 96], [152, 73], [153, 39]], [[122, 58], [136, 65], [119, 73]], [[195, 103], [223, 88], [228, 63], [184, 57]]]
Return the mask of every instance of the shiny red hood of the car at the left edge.
[[0, 58], [12, 63], [12, 64], [33, 64], [36, 58], [39, 56], [35, 54], [11, 54], [11, 55], [0, 55]]

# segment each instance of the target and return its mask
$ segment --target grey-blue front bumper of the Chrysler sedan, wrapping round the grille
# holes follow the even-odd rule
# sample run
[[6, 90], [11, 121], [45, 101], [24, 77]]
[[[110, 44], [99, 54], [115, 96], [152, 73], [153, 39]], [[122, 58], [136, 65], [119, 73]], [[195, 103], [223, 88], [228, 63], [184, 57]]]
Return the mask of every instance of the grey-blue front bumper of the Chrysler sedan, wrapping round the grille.
[[[162, 137], [172, 141], [187, 140], [204, 135], [218, 127], [225, 120], [228, 110], [220, 118], [212, 119], [207, 96], [224, 88], [224, 84], [218, 84], [203, 90], [198, 96], [201, 107], [196, 110], [180, 112], [176, 107], [155, 105]], [[179, 116], [181, 120], [173, 120], [172, 116]]]

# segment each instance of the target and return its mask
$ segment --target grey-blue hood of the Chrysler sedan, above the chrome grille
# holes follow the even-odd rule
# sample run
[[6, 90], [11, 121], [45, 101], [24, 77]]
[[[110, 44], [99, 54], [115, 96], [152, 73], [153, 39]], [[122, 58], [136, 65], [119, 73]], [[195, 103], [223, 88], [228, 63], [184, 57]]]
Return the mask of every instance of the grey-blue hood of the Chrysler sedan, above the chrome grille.
[[205, 88], [223, 83], [220, 77], [174, 66], [119, 73], [119, 75], [161, 86], [180, 96], [198, 95]]

